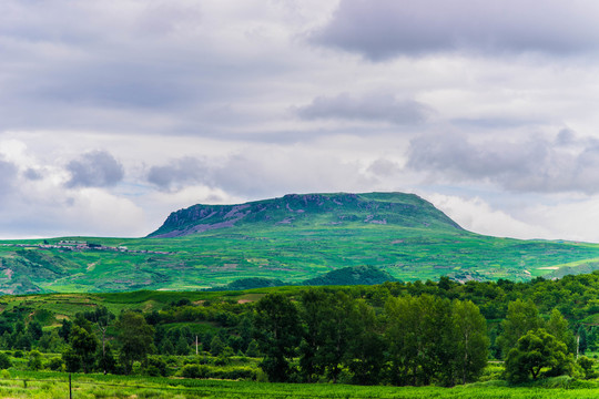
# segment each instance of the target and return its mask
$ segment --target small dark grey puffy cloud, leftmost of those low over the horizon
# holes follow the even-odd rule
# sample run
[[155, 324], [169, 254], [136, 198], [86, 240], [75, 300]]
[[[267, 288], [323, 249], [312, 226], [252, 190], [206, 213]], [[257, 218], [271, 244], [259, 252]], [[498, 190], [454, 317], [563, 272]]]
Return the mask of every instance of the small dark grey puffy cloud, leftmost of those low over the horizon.
[[123, 180], [123, 166], [106, 151], [92, 151], [69, 162], [68, 187], [108, 187]]

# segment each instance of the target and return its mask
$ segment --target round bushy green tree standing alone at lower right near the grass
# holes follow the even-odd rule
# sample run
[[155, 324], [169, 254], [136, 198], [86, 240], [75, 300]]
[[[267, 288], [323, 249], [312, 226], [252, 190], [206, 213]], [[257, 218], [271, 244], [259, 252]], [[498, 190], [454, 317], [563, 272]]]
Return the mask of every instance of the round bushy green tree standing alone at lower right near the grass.
[[556, 339], [547, 330], [538, 328], [518, 339], [506, 358], [506, 378], [517, 383], [537, 379], [544, 368], [547, 376], [567, 374], [573, 359], [568, 356], [566, 344]]

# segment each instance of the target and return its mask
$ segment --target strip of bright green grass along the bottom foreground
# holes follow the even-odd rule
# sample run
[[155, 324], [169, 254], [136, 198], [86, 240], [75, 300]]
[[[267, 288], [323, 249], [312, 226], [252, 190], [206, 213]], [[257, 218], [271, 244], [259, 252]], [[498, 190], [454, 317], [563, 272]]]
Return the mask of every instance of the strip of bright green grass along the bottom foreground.
[[[69, 378], [59, 372], [11, 371], [0, 377], [0, 398], [68, 398]], [[549, 385], [551, 386], [551, 385]], [[597, 398], [597, 382], [557, 380], [561, 388], [505, 386], [501, 381], [455, 388], [294, 385], [151, 377], [73, 375], [73, 398]], [[566, 388], [564, 388], [566, 387]]]

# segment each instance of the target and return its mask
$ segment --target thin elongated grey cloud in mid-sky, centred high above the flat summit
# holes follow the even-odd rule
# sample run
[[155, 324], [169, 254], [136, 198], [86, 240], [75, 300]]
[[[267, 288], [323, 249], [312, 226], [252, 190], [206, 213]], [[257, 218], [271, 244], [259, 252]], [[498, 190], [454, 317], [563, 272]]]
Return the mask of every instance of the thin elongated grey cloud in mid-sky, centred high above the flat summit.
[[297, 115], [306, 120], [338, 119], [384, 121], [395, 124], [415, 124], [426, 121], [433, 110], [416, 101], [398, 101], [389, 94], [353, 98], [347, 93], [318, 96], [311, 104], [300, 106]]

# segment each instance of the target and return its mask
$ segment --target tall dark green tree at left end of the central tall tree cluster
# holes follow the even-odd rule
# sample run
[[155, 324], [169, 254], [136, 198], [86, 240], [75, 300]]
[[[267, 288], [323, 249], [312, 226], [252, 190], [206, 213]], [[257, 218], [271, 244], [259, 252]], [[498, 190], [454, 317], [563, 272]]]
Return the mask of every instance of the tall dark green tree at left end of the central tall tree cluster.
[[301, 337], [297, 309], [286, 296], [271, 293], [257, 301], [254, 323], [256, 340], [265, 355], [260, 367], [271, 381], [286, 381]]

